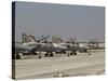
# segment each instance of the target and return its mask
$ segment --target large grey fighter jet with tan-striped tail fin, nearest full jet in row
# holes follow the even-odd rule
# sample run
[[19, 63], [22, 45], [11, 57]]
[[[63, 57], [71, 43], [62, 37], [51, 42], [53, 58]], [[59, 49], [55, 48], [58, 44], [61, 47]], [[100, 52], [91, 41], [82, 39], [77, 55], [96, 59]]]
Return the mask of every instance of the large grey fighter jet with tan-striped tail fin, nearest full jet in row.
[[[53, 57], [53, 52], [66, 50], [66, 46], [63, 46], [60, 44], [56, 44], [53, 42], [36, 42], [35, 40], [31, 41], [31, 37], [23, 35], [23, 43], [21, 46], [15, 46], [16, 52], [18, 53], [17, 55], [19, 56], [19, 53], [25, 53], [25, 52], [30, 52], [30, 53], [36, 53], [36, 52], [46, 52], [44, 54], [45, 57]], [[43, 38], [42, 38], [43, 40]], [[40, 53], [39, 53], [40, 54]]]

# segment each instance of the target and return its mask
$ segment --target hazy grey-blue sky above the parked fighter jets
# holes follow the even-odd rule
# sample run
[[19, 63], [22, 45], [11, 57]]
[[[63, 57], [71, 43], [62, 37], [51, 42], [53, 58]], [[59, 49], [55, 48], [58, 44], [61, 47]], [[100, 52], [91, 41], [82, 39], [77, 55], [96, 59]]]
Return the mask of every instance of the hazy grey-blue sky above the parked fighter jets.
[[105, 8], [16, 2], [15, 41], [22, 41], [23, 32], [36, 38], [55, 35], [65, 41], [71, 36], [78, 41], [105, 41]]

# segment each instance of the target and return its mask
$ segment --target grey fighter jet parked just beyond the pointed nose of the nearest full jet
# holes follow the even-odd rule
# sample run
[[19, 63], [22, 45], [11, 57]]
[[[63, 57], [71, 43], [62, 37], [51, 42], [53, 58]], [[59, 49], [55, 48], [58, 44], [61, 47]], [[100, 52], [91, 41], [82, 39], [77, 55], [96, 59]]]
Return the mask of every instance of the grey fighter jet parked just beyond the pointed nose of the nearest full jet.
[[66, 50], [63, 50], [62, 53], [66, 53], [66, 51], [69, 52], [68, 53], [69, 55], [77, 55], [77, 51], [79, 51], [79, 52], [86, 52], [87, 53], [86, 50], [89, 50], [89, 46], [80, 44], [80, 43], [76, 42], [76, 40], [77, 40], [77, 37], [72, 37], [71, 36], [68, 41], [57, 43], [57, 44], [60, 44], [60, 45], [67, 48]]

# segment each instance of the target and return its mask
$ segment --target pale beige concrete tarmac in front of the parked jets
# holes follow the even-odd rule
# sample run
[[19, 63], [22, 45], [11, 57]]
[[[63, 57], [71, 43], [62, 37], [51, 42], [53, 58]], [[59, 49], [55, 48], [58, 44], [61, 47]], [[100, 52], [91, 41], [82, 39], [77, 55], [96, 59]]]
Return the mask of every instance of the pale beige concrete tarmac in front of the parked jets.
[[55, 55], [41, 59], [15, 59], [15, 79], [39, 79], [54, 77], [76, 77], [105, 73], [105, 52], [78, 53], [67, 56]]

